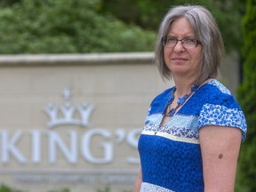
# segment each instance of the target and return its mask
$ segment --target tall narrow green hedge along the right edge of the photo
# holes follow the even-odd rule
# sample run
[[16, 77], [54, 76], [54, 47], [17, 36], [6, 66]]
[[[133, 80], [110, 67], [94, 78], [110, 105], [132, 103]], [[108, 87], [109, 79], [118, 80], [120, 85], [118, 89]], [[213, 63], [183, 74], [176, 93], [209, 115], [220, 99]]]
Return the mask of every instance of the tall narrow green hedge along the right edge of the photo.
[[243, 192], [256, 191], [256, 0], [247, 0], [243, 18], [244, 81], [238, 90], [238, 100], [247, 120], [247, 139], [241, 148], [237, 182]]

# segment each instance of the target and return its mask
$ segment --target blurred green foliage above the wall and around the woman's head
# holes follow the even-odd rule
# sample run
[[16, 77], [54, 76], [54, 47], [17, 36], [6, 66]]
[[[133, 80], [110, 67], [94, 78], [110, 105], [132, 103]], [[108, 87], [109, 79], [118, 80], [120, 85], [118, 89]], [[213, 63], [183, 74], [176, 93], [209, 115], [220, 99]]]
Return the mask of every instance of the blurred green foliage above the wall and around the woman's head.
[[176, 4], [203, 4], [228, 50], [240, 46], [239, 0], [2, 0], [0, 54], [151, 52], [159, 22]]

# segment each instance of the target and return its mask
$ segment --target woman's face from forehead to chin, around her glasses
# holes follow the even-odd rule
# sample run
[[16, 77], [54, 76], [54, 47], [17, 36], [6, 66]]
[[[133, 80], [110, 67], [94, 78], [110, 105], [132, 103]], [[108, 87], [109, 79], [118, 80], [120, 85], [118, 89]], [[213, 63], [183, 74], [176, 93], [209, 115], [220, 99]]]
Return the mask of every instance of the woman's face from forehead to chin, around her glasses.
[[[180, 18], [172, 22], [167, 38], [177, 39], [196, 38], [194, 29], [186, 18]], [[199, 60], [202, 52], [202, 45], [198, 44], [195, 48], [184, 48], [180, 41], [169, 48], [164, 47], [164, 60], [167, 68], [172, 71], [172, 76], [199, 76]]]

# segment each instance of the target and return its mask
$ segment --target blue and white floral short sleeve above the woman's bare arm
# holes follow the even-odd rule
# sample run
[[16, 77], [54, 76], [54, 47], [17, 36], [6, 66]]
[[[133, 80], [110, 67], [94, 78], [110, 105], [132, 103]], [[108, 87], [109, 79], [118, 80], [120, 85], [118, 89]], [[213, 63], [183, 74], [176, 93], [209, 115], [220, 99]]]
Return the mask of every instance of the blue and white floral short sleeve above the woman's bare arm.
[[204, 104], [198, 120], [199, 128], [205, 125], [236, 127], [242, 131], [242, 141], [246, 136], [246, 121], [241, 108], [228, 108], [224, 105]]

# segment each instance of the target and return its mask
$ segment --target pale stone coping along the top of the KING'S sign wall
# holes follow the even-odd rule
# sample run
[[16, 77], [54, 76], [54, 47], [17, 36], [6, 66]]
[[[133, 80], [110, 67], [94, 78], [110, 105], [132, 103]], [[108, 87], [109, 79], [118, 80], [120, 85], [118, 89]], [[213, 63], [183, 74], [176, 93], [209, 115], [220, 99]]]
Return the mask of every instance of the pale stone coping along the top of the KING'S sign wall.
[[153, 52], [0, 55], [0, 67], [132, 64], [154, 62]]

